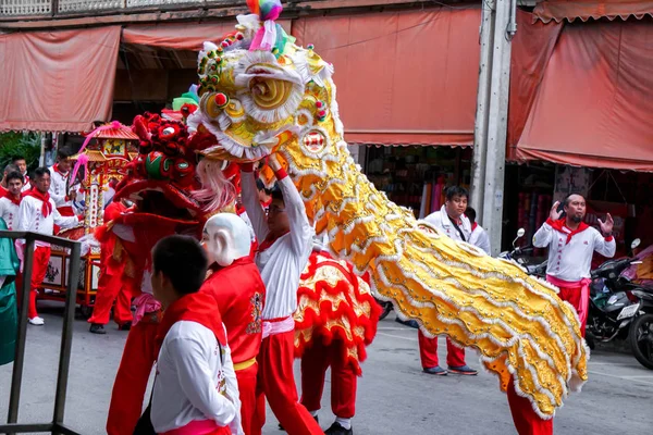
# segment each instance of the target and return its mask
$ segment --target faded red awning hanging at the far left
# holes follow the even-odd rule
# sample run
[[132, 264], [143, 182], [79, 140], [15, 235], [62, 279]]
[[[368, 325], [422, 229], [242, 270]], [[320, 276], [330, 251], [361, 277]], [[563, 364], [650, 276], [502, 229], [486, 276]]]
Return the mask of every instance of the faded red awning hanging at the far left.
[[0, 130], [110, 121], [120, 27], [0, 35]]

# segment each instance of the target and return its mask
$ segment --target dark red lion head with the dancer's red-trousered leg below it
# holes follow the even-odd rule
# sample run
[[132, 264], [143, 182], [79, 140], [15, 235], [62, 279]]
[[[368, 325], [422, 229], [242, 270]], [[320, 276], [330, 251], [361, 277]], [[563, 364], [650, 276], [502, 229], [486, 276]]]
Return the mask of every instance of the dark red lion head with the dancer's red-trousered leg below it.
[[[113, 384], [107, 420], [109, 435], [134, 432], [156, 359], [155, 338], [161, 307], [151, 291], [152, 247], [172, 234], [199, 239], [207, 213], [233, 201], [232, 196], [224, 194], [224, 184], [214, 183], [213, 187], [224, 194], [215, 199], [211, 191], [202, 190], [195, 176], [196, 152], [206, 146], [206, 135], [190, 136], [183, 123], [149, 113], [137, 116], [133, 129], [140, 138], [139, 156], [130, 163], [127, 176], [116, 187], [115, 198], [134, 199], [136, 207], [133, 212], [116, 217], [110, 231], [124, 248], [123, 281], [133, 289], [136, 311]], [[215, 200], [196, 199], [195, 195], [200, 191], [205, 198]]]

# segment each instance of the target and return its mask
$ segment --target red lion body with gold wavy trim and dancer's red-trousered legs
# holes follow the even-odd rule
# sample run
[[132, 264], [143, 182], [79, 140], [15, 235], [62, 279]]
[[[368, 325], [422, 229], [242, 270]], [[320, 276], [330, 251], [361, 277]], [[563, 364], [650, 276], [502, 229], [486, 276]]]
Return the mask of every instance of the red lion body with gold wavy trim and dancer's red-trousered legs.
[[357, 378], [377, 334], [381, 307], [350, 264], [333, 259], [316, 243], [301, 274], [295, 312], [295, 356], [301, 358], [301, 405], [317, 419], [326, 369], [331, 368], [331, 411], [326, 435], [352, 435]]

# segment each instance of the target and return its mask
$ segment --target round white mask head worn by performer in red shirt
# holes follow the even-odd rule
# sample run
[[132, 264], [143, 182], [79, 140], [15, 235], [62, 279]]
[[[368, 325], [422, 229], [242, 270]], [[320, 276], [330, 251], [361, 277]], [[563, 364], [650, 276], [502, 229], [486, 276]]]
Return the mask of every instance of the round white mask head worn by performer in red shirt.
[[209, 257], [209, 264], [215, 262], [223, 268], [249, 256], [251, 249], [247, 224], [232, 213], [219, 213], [207, 221], [202, 244]]

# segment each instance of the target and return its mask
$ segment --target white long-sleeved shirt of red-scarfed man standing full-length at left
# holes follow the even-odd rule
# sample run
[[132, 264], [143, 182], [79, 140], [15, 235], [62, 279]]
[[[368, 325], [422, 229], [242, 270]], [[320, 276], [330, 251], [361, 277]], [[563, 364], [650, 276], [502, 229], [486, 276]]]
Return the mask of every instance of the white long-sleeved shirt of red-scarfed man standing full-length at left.
[[[54, 231], [54, 224], [61, 226], [62, 228], [70, 228], [79, 222], [77, 216], [62, 216], [59, 214], [52, 198], [50, 198], [52, 211], [47, 217], [44, 217], [41, 211], [42, 204], [44, 201], [35, 197], [23, 198], [21, 201], [21, 207], [19, 208], [19, 223], [15, 229], [51, 236]], [[36, 246], [48, 247], [50, 244], [37, 240]]]

